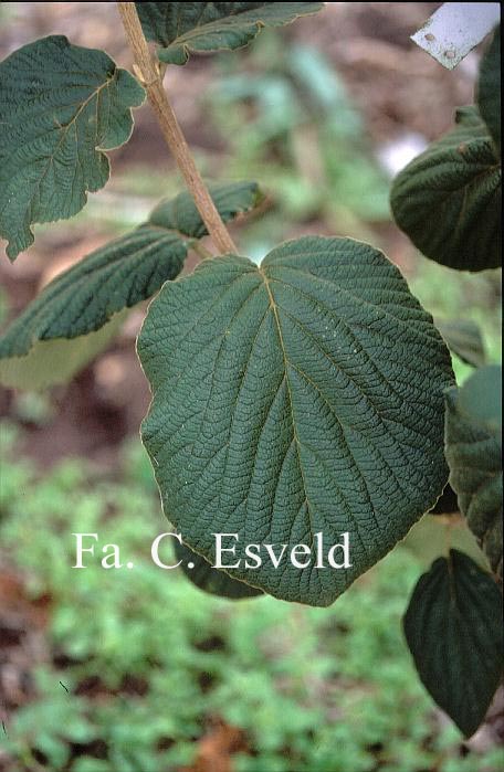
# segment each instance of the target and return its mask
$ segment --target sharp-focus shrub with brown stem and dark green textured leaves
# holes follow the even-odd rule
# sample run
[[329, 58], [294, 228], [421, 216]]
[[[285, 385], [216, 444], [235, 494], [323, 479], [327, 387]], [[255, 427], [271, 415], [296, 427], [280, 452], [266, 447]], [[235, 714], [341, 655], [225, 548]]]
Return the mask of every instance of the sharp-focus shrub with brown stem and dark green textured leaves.
[[[7, 254], [13, 261], [35, 223], [75, 214], [104, 187], [106, 151], [128, 140], [132, 110], [146, 97], [188, 191], [48, 285], [0, 339], [0, 378], [14, 388], [70, 378], [128, 308], [155, 296], [137, 351], [153, 391], [141, 435], [164, 510], [183, 537], [185, 568], [197, 567], [189, 580], [227, 597], [256, 595], [251, 604], [264, 594], [340, 604], [426, 512], [447, 515], [443, 497], [455, 495], [482, 552], [444, 544], [411, 594], [403, 628], [424, 686], [470, 737], [502, 677], [500, 368], [482, 362], [473, 327], [435, 326], [367, 243], [308, 235], [255, 265], [225, 223], [261, 202], [260, 183], [207, 187], [199, 176], [162, 85], [167, 67], [240, 47], [262, 27], [322, 3], [118, 6], [134, 73], [59, 35], [0, 64]], [[450, 268], [500, 261], [498, 61], [496, 31], [475, 104], [391, 190], [397, 224]], [[218, 254], [201, 243], [206, 234]], [[180, 276], [191, 251], [201, 263]], [[474, 367], [461, 388], [449, 348]], [[303, 567], [242, 560], [217, 571], [216, 532], [285, 543], [287, 553], [314, 548], [317, 535], [325, 543], [321, 560]], [[343, 533], [351, 561], [324, 568]]]

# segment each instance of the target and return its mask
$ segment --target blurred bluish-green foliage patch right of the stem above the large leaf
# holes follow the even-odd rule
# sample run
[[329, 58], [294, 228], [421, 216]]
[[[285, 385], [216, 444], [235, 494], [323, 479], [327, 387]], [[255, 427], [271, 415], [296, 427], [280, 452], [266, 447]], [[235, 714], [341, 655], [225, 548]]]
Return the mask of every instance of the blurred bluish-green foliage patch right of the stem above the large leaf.
[[[292, 235], [294, 222], [323, 220], [356, 235], [389, 218], [388, 181], [375, 161], [358, 110], [317, 49], [279, 46], [265, 33], [240, 60], [222, 55], [206, 106], [227, 150], [221, 173], [252, 173], [276, 210], [246, 235], [263, 251]], [[252, 236], [252, 239], [251, 239]]]

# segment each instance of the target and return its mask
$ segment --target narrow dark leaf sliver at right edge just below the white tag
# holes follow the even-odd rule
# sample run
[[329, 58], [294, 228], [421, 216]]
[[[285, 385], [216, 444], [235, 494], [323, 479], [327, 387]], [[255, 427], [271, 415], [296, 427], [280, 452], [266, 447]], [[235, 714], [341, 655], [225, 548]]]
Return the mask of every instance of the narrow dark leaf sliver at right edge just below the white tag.
[[501, 155], [501, 28], [495, 30], [492, 44], [480, 65], [476, 93], [481, 116]]

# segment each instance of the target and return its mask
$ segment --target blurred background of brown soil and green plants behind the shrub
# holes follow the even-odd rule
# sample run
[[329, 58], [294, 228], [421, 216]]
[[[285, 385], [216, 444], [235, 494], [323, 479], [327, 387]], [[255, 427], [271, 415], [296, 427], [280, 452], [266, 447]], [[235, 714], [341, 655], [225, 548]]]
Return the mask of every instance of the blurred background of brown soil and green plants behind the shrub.
[[[496, 361], [496, 272], [429, 262], [389, 214], [393, 173], [472, 102], [479, 50], [449, 73], [409, 40], [439, 4], [330, 2], [243, 51], [193, 56], [165, 83], [204, 176], [258, 180], [267, 193], [233, 225], [243, 253], [260, 260], [306, 233], [369, 241], [434, 317], [476, 321]], [[114, 3], [1, 3], [1, 59], [52, 33], [130, 66]], [[148, 106], [135, 118], [132, 140], [111, 154], [111, 182], [77, 216], [36, 226], [14, 265], [0, 247], [0, 325], [181, 190]], [[400, 628], [448, 527], [429, 531], [429, 550], [416, 532], [329, 609], [222, 601], [151, 563], [166, 521], [138, 436], [144, 314], [134, 309], [70, 384], [0, 398], [0, 770], [503, 769], [502, 699], [462, 742], [419, 684]], [[468, 366], [454, 367], [462, 381]], [[136, 570], [73, 570], [74, 531], [119, 543]]]

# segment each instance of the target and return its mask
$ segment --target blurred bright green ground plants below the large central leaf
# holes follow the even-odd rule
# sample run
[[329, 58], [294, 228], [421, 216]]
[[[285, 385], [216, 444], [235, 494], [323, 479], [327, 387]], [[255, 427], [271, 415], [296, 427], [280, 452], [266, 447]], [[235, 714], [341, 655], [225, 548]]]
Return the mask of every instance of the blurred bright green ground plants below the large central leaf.
[[[31, 596], [51, 597], [52, 662], [34, 668], [36, 699], [8, 721], [10, 772], [175, 770], [217, 718], [245, 732], [239, 772], [504, 762], [502, 750], [463, 758], [418, 683], [399, 621], [420, 564], [403, 548], [329, 609], [221, 601], [151, 562], [167, 524], [139, 443], [115, 474], [77, 458], [40, 474], [17, 458], [13, 425], [1, 436], [1, 550]], [[118, 543], [135, 568], [104, 570], [98, 556], [72, 569], [75, 531]]]

